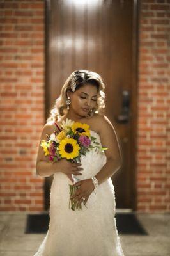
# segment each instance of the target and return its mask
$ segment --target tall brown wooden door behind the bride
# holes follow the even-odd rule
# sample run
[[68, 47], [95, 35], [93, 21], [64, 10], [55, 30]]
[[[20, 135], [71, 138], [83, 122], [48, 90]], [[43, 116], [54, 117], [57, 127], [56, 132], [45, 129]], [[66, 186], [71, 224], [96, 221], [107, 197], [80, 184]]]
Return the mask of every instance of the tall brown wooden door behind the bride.
[[[76, 69], [105, 83], [105, 115], [114, 125], [123, 167], [112, 177], [116, 208], [136, 208], [137, 1], [46, 1], [46, 116]], [[46, 209], [51, 178], [46, 178]]]

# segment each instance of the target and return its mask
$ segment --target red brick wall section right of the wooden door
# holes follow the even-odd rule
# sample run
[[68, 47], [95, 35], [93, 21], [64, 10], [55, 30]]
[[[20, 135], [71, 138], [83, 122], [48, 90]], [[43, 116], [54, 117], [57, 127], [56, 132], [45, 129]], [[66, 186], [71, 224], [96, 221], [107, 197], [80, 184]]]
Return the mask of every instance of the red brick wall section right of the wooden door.
[[141, 1], [138, 211], [169, 212], [170, 1]]

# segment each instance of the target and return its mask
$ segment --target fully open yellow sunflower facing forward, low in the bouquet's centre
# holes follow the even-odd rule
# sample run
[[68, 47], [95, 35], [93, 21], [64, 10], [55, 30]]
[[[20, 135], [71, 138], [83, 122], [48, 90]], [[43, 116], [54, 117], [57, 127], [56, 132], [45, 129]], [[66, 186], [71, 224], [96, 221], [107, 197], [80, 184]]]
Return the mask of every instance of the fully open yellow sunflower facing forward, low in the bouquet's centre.
[[77, 141], [73, 138], [65, 138], [59, 144], [58, 150], [61, 157], [66, 159], [73, 159], [79, 155], [81, 148], [77, 144]]

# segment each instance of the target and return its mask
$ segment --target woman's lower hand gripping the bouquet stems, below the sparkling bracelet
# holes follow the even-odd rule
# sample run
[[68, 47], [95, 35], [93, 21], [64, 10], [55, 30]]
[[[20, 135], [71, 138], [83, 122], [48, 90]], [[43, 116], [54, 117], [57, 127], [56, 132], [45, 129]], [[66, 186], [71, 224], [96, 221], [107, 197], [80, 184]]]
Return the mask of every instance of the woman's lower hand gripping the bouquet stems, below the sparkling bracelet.
[[86, 202], [88, 201], [89, 196], [95, 189], [92, 179], [80, 180], [79, 182], [76, 182], [75, 184], [73, 184], [73, 186], [80, 186], [80, 187], [79, 189], [77, 189], [75, 194], [71, 196], [71, 198], [72, 199], [74, 198], [74, 202], [79, 201], [79, 205], [81, 205], [81, 203], [83, 202], [82, 197], [84, 197], [85, 198], [84, 205], [85, 205]]

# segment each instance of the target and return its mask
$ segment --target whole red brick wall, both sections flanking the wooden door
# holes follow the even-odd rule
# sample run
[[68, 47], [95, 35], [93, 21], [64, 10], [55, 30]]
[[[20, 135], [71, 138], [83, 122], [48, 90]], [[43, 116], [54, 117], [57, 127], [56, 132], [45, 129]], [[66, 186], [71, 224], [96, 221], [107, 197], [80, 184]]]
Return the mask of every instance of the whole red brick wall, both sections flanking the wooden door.
[[[0, 211], [42, 211], [35, 174], [44, 124], [44, 1], [0, 2]], [[137, 210], [168, 212], [169, 1], [141, 1]]]

